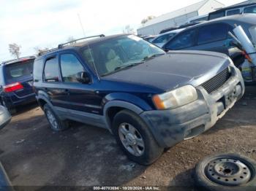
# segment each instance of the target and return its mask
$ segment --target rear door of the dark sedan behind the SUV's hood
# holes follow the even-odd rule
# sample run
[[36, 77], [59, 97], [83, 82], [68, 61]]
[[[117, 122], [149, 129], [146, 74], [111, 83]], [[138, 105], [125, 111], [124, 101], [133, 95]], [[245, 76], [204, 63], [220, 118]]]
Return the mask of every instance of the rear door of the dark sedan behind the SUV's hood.
[[198, 28], [194, 50], [222, 52], [228, 55], [228, 31], [232, 31], [232, 29], [226, 23], [214, 23]]

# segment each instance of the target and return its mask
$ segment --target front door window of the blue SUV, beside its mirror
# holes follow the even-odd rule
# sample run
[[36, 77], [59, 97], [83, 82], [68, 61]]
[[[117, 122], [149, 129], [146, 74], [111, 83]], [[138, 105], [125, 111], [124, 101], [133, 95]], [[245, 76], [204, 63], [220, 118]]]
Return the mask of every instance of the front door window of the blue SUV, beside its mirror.
[[75, 55], [61, 55], [61, 74], [64, 82], [78, 82], [76, 74], [81, 71], [84, 71], [83, 66]]

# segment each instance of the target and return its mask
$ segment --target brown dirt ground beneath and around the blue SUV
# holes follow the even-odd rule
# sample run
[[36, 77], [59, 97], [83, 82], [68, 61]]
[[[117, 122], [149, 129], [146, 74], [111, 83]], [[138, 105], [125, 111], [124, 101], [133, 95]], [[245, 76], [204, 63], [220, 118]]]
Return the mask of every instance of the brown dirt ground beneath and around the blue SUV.
[[256, 160], [256, 87], [211, 130], [177, 144], [148, 167], [127, 160], [108, 130], [73, 123], [50, 130], [36, 105], [20, 109], [0, 132], [0, 160], [15, 186], [192, 186], [195, 164], [237, 152]]

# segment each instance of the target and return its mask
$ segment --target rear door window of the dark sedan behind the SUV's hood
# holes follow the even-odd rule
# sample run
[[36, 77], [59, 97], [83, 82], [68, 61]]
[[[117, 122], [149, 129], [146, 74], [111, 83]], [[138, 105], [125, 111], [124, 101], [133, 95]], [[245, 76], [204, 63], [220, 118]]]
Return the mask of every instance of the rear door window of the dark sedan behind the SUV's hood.
[[228, 26], [225, 24], [215, 24], [204, 26], [198, 31], [198, 44], [216, 42], [227, 38]]

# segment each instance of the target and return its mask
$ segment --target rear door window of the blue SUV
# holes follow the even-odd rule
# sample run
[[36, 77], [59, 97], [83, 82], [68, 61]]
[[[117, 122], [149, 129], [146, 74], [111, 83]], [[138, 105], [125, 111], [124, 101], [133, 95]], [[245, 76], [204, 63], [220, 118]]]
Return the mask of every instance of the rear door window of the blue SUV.
[[57, 58], [49, 58], [45, 62], [45, 82], [59, 82], [59, 67]]

